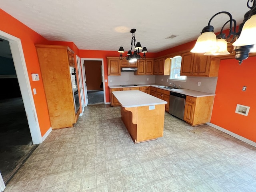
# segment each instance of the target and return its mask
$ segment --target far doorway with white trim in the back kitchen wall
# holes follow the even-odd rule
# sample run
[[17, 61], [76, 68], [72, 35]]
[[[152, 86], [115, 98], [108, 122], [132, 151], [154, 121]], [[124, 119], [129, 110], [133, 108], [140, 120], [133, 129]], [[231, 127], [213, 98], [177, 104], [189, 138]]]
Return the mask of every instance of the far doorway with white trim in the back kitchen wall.
[[106, 104], [103, 59], [82, 59], [89, 105]]

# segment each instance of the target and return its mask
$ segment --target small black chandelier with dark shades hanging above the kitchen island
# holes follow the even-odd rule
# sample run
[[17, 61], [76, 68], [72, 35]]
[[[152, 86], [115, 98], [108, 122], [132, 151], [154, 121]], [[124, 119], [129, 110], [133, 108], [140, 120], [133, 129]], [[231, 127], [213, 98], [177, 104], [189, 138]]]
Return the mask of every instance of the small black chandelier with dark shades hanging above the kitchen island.
[[[145, 60], [146, 59], [146, 53], [148, 52], [146, 47], [143, 47], [143, 49], [142, 49], [142, 46], [141, 46], [140, 42], [136, 43], [136, 45], [135, 45], [135, 42], [136, 42], [135, 35], [134, 35], [135, 32], [136, 32], [136, 29], [131, 29], [130, 30], [130, 33], [132, 34], [132, 42], [131, 42], [131, 50], [128, 51], [127, 56], [123, 57], [123, 55], [122, 55], [124, 53], [124, 48], [123, 47], [120, 47], [119, 50], [118, 50], [118, 52], [120, 53], [119, 58], [121, 60], [126, 58], [126, 60], [128, 60], [130, 63], [136, 62], [140, 58]], [[132, 46], [133, 45], [135, 46], [135, 51], [132, 53]], [[140, 56], [140, 50], [141, 49], [142, 49], [141, 53], [143, 53], [143, 57]]]

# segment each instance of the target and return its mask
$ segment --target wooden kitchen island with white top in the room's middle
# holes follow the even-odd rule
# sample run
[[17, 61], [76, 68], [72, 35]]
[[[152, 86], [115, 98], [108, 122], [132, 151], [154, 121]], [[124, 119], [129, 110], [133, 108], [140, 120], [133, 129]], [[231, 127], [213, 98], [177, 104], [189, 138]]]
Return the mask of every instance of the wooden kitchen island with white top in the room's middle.
[[163, 136], [166, 101], [139, 90], [112, 93], [121, 105], [122, 120], [134, 143]]

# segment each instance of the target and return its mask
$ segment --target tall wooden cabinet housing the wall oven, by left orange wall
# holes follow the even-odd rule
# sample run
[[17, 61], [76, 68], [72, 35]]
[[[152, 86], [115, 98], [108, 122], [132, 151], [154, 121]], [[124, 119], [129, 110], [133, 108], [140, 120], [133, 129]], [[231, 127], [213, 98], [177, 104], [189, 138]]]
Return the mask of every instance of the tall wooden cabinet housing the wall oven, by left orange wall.
[[[36, 52], [51, 127], [72, 127], [76, 123], [70, 76], [70, 66], [74, 66], [74, 52], [68, 46], [55, 45], [36, 45]], [[77, 113], [80, 114], [80, 110]]]

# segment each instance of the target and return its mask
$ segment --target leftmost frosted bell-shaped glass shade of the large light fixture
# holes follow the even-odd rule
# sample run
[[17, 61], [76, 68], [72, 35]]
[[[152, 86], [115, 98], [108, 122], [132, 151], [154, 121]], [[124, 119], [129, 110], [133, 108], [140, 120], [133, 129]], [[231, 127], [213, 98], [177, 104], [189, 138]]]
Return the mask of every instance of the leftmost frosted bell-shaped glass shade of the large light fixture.
[[192, 53], [205, 53], [205, 52], [216, 52], [216, 35], [213, 32], [204, 32], [202, 33], [194, 46], [190, 51]]

